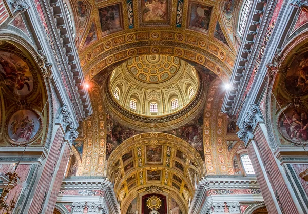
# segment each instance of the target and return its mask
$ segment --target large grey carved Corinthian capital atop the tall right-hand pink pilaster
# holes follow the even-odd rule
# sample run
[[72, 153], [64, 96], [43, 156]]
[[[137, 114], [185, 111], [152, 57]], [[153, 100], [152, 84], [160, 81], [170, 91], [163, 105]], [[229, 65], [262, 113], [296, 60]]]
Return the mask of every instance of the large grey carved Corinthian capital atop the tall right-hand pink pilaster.
[[253, 138], [253, 132], [258, 122], [263, 121], [260, 109], [257, 105], [251, 104], [250, 110], [246, 113], [246, 116], [241, 124], [240, 131], [237, 132], [238, 137], [244, 141], [245, 146], [250, 139]]

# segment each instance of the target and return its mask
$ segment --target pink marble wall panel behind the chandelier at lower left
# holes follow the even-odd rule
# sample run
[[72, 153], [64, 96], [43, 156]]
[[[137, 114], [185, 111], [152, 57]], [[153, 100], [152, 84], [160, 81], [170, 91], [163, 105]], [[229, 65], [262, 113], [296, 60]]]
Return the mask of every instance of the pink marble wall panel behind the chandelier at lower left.
[[[20, 193], [23, 189], [23, 183], [26, 181], [29, 170], [31, 165], [19, 165], [16, 172], [18, 176], [20, 177], [20, 180], [17, 182], [17, 185], [10, 191], [7, 201], [10, 202], [13, 197], [15, 199], [18, 199], [20, 196]], [[14, 166], [12, 164], [0, 164], [0, 172], [7, 173], [7, 172], [13, 172]], [[17, 201], [17, 200], [16, 200]]]

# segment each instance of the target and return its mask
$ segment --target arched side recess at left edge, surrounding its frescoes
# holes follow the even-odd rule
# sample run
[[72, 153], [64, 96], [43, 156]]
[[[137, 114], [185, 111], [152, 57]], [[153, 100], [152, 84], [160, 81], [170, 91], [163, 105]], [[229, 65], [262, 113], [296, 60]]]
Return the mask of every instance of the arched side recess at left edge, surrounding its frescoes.
[[[1, 127], [6, 129], [0, 131], [4, 133], [3, 139], [5, 140], [2, 143], [15, 146], [41, 145], [48, 149], [56, 107], [53, 106], [51, 99], [51, 71], [45, 67], [48, 63], [47, 59], [44, 58], [43, 52], [37, 52], [28, 41], [9, 30], [0, 33], [0, 49], [3, 53], [1, 57], [3, 63], [14, 62], [10, 70], [12, 75], [10, 77], [3, 76], [6, 84], [3, 84], [0, 95], [0, 103], [2, 103], [0, 116], [5, 119], [2, 121]], [[6, 60], [5, 54], [11, 54], [9, 61]], [[19, 67], [17, 68], [17, 66]], [[18, 85], [8, 90], [7, 87], [13, 87], [13, 85], [10, 85], [10, 78], [14, 76], [14, 68], [18, 69], [18, 73], [21, 73], [20, 70], [23, 72], [18, 74]], [[3, 72], [2, 75], [7, 74]], [[17, 78], [17, 74], [15, 78]], [[15, 94], [14, 90], [17, 90], [18, 94]], [[28, 116], [28, 119], [30, 118], [29, 120], [34, 122], [33, 127], [28, 130], [28, 138], [25, 137], [27, 140], [24, 139], [23, 142], [12, 140], [8, 133], [10, 128], [5, 125], [10, 122], [10, 118], [13, 118], [13, 116], [16, 119], [17, 113], [19, 117], [22, 115]]]

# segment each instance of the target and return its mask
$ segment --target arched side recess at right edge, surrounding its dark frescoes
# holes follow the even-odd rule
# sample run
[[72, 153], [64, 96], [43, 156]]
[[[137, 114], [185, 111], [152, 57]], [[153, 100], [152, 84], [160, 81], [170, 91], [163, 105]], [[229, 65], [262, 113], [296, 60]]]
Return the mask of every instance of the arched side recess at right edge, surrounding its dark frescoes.
[[[263, 113], [265, 116], [269, 144], [272, 148], [277, 148], [278, 144], [308, 144], [307, 140], [303, 140], [301, 143], [291, 139], [288, 134], [283, 133], [285, 127], [282, 125], [283, 120], [287, 123], [286, 116], [288, 116], [288, 114], [291, 115], [291, 112], [288, 111], [291, 111], [292, 108], [300, 109], [302, 112], [308, 112], [308, 106], [305, 104], [308, 99], [307, 93], [294, 95], [288, 92], [285, 86], [286, 77], [290, 76], [290, 73], [295, 70], [294, 68], [290, 69], [290, 66], [293, 66], [295, 60], [299, 60], [304, 54], [308, 54], [307, 48], [308, 32], [300, 33], [289, 41], [282, 50], [278, 49], [272, 62], [267, 64], [268, 83], [264, 97], [265, 110]], [[296, 88], [297, 86], [294, 87]], [[299, 105], [298, 108], [296, 107], [297, 105]]]

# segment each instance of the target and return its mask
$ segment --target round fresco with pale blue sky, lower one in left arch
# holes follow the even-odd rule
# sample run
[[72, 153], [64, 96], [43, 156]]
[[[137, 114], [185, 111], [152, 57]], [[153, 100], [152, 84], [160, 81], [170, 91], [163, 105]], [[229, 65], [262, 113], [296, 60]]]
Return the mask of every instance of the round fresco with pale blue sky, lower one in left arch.
[[15, 142], [31, 140], [40, 129], [38, 115], [31, 110], [18, 110], [10, 118], [8, 134]]

